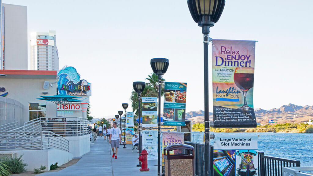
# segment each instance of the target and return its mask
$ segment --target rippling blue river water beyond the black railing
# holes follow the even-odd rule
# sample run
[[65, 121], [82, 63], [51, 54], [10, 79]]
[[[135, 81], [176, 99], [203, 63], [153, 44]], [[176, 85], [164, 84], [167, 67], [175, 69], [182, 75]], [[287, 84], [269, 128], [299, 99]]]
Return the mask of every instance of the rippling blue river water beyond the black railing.
[[[192, 132], [197, 133], [197, 132]], [[258, 151], [271, 157], [300, 160], [300, 163], [313, 161], [313, 134], [307, 133], [213, 133], [215, 135], [249, 135], [258, 134]], [[197, 141], [194, 141], [197, 142]], [[199, 142], [199, 141], [198, 141]], [[213, 140], [211, 141], [213, 145]]]

